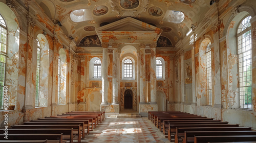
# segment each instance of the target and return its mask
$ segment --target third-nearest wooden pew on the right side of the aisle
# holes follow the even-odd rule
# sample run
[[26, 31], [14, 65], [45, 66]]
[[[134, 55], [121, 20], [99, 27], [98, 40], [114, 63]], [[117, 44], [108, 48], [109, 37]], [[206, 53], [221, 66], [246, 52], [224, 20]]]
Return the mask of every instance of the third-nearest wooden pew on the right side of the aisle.
[[251, 128], [250, 127], [183, 127], [183, 128], [179, 128], [178, 127], [176, 128], [175, 139], [177, 140], [180, 137], [184, 137], [185, 131], [251, 131]]

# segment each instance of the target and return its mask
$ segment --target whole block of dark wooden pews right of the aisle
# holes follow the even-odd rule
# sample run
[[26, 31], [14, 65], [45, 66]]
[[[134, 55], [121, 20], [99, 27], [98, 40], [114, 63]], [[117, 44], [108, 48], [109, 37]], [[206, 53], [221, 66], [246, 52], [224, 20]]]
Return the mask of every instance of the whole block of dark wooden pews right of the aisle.
[[228, 124], [214, 118], [170, 111], [148, 112], [148, 120], [175, 143], [191, 142], [256, 142], [256, 131], [239, 124]]

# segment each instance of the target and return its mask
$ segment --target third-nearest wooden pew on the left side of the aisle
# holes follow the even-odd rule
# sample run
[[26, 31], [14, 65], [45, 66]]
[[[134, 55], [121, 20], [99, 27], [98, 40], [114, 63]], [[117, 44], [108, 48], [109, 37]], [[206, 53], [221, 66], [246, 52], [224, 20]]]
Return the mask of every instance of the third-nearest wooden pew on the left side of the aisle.
[[[0, 134], [4, 134], [5, 130], [0, 129]], [[70, 142], [73, 142], [73, 138], [75, 135], [73, 135], [73, 128], [71, 129], [8, 129], [8, 133], [10, 134], [60, 134], [62, 133], [63, 139], [68, 139]], [[49, 142], [49, 141], [48, 141]]]

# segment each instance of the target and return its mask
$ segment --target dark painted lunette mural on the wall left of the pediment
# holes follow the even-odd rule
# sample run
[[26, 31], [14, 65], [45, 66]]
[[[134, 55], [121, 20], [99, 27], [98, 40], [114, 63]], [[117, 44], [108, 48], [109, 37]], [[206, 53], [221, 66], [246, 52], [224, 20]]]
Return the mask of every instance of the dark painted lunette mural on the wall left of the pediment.
[[79, 46], [101, 46], [101, 42], [98, 36], [86, 36], [80, 41]]

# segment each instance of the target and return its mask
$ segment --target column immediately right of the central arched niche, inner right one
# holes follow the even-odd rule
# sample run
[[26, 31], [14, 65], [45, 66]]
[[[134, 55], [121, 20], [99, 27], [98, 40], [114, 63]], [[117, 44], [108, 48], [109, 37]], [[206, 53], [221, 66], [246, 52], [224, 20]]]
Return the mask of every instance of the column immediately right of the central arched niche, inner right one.
[[145, 104], [145, 96], [146, 96], [146, 66], [145, 66], [145, 43], [140, 44], [140, 104]]

